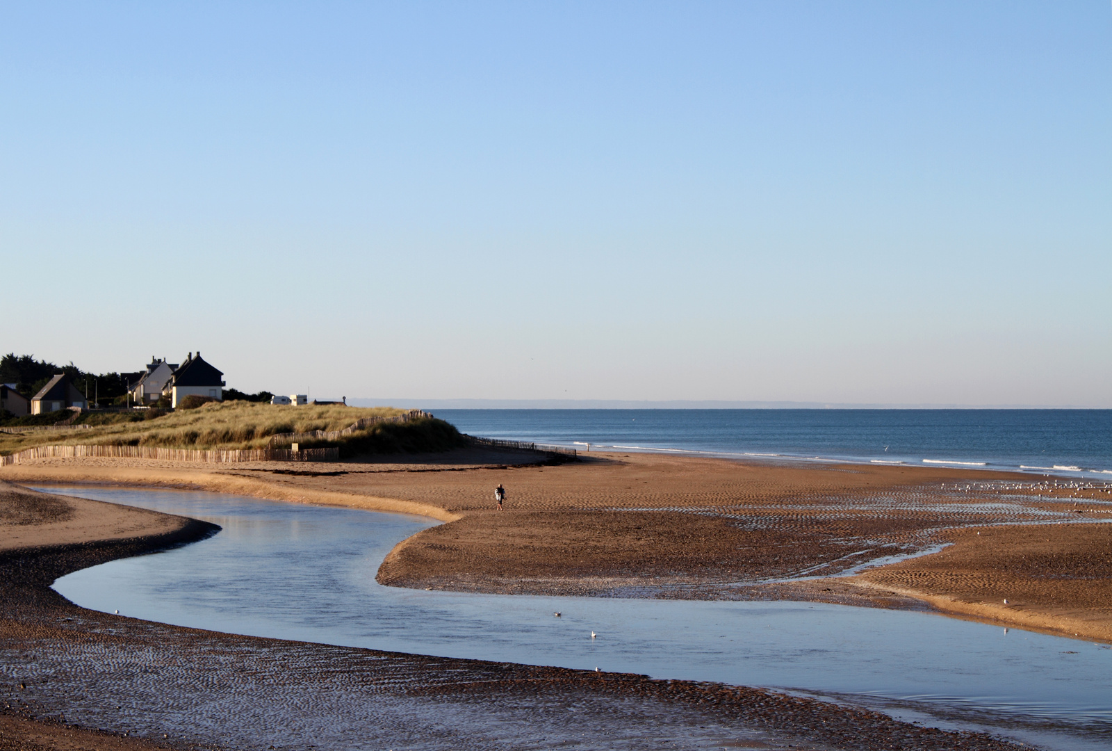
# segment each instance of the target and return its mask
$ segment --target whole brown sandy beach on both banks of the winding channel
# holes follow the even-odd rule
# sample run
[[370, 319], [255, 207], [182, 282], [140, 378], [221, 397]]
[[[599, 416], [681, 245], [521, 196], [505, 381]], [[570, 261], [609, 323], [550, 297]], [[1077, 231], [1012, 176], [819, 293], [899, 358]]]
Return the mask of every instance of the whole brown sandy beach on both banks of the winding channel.
[[[1027, 475], [653, 454], [562, 463], [477, 448], [335, 464], [41, 460], [0, 472], [9, 483], [188, 487], [446, 522], [387, 556], [378, 579], [391, 585], [818, 600], [1112, 639], [1112, 536], [1096, 523], [1108, 518], [1108, 494]], [[498, 484], [508, 494], [502, 512]], [[1013, 748], [756, 689], [249, 639], [92, 613], [50, 583], [211, 527], [0, 487], [2, 722], [4, 738], [17, 739], [0, 751], [284, 749], [305, 748], [306, 738], [316, 748], [345, 748], [353, 738], [430, 749]]]

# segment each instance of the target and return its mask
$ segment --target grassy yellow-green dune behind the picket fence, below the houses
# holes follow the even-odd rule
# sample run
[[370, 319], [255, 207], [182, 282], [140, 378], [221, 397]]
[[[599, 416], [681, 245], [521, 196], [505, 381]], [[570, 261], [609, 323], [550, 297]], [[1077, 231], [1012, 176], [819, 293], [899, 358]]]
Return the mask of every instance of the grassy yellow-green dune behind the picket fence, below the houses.
[[[0, 433], [0, 454], [50, 444], [157, 446], [165, 448], [265, 448], [277, 433], [338, 431], [370, 416], [391, 417], [393, 407], [285, 406], [249, 402], [216, 402], [197, 409], [179, 409], [153, 419], [108, 422], [75, 431]], [[109, 413], [110, 414], [110, 413]], [[90, 424], [92, 421], [89, 421]], [[444, 451], [463, 443], [455, 427], [440, 419], [406, 424], [373, 425], [341, 442], [314, 442], [314, 446], [339, 445], [345, 455], [397, 451]], [[305, 445], [309, 447], [308, 444]]]

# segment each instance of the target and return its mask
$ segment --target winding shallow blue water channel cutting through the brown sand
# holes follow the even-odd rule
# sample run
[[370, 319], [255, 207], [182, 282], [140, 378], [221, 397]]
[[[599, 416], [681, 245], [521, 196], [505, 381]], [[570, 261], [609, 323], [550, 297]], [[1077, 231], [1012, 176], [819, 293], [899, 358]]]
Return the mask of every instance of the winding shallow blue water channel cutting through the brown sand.
[[38, 490], [222, 527], [54, 582], [92, 610], [255, 636], [773, 686], [1045, 748], [1112, 748], [1112, 649], [1102, 644], [821, 603], [387, 587], [375, 582], [383, 557], [436, 522], [214, 493]]

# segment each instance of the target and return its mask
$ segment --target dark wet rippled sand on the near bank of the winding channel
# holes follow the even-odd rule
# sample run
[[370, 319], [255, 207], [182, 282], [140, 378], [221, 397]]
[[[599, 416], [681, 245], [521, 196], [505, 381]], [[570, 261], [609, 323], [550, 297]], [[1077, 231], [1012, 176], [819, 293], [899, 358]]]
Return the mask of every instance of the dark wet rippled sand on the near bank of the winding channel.
[[[758, 689], [255, 639], [86, 611], [50, 583], [212, 526], [4, 484], [0, 510], [0, 751], [1023, 748]], [[103, 540], [106, 530], [125, 536]], [[18, 541], [32, 531], [53, 544]]]

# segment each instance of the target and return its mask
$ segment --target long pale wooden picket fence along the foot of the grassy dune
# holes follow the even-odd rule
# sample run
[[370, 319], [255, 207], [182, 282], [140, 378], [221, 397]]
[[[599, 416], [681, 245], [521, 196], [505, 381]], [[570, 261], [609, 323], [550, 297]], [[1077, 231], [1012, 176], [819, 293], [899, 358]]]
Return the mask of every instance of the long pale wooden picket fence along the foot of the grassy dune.
[[36, 446], [9, 456], [0, 456], [0, 466], [20, 464], [37, 458], [153, 458], [171, 462], [335, 462], [339, 448], [156, 448], [151, 446]]

